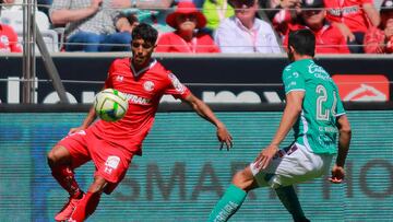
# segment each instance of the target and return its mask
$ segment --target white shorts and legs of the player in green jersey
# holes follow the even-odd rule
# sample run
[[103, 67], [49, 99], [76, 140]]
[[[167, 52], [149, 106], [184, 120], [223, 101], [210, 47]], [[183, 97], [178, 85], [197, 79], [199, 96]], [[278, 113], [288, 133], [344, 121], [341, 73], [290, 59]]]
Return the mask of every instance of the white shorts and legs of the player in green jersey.
[[[231, 186], [230, 189], [225, 192], [212, 211], [209, 221], [227, 221], [240, 207], [239, 202], [241, 203], [243, 201], [247, 191], [255, 187], [267, 186], [277, 189], [295, 183], [309, 180], [320, 175], [322, 164], [320, 161], [315, 162], [313, 157], [314, 154], [307, 153], [296, 145], [290, 145], [278, 151], [265, 170], [259, 170], [254, 163], [251, 163], [246, 170], [236, 174], [234, 177], [235, 186]], [[241, 190], [243, 192], [241, 192]], [[278, 190], [278, 195], [281, 198], [287, 198], [287, 201], [283, 203], [286, 208], [291, 209], [290, 213], [299, 213], [299, 218], [301, 218], [300, 212], [302, 212], [302, 210], [296, 194], [293, 191], [295, 190], [283, 188]], [[236, 195], [230, 195], [231, 192]], [[288, 195], [288, 197], [283, 197], [285, 194]], [[237, 197], [237, 199], [235, 197]], [[242, 199], [240, 197], [242, 197]], [[238, 200], [238, 202], [228, 206], [229, 202], [234, 202], [234, 199]], [[236, 206], [236, 208], [231, 209], [233, 206]]]

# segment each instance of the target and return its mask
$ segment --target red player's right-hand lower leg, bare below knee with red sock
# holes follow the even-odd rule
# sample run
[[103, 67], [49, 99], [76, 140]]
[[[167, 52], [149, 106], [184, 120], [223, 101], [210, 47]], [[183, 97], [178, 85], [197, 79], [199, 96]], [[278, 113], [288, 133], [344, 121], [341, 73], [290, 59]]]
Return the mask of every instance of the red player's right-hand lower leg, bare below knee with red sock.
[[100, 196], [107, 185], [108, 182], [105, 178], [102, 176], [95, 176], [93, 184], [90, 186], [86, 195], [78, 203], [69, 221], [82, 222], [94, 213], [99, 203]]

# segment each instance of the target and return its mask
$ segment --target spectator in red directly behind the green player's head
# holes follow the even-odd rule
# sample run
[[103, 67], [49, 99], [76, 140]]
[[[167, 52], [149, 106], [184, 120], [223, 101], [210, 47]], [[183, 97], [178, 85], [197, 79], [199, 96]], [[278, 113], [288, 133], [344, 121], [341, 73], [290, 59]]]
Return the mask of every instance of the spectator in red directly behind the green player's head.
[[308, 0], [301, 3], [301, 11], [296, 22], [288, 24], [284, 45], [288, 44], [291, 31], [309, 28], [315, 35], [318, 54], [349, 54], [347, 43], [340, 30], [325, 19], [323, 0]]

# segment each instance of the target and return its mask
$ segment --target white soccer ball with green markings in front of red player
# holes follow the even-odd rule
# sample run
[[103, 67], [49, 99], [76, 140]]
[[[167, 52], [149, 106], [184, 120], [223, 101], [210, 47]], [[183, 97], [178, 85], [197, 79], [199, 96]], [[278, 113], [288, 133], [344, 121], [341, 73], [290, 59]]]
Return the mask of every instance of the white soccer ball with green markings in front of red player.
[[105, 89], [96, 95], [94, 109], [100, 119], [117, 121], [126, 115], [128, 100], [123, 93], [117, 90]]

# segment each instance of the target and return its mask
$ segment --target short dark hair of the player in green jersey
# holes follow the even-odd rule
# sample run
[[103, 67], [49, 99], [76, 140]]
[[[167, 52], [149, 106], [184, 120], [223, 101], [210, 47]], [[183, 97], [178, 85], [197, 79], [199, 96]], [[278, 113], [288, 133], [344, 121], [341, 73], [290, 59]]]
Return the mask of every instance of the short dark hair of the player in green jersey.
[[310, 30], [298, 30], [289, 33], [288, 47], [294, 47], [299, 55], [315, 55], [315, 36]]

